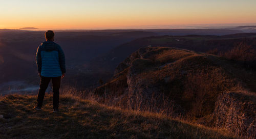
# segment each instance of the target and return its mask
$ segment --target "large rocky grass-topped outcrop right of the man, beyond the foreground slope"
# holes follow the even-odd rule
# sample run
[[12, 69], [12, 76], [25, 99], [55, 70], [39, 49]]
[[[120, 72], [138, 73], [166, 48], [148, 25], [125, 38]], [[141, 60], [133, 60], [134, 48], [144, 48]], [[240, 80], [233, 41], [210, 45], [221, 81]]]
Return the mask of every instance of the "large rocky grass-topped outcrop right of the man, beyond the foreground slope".
[[243, 71], [234, 68], [215, 55], [146, 47], [120, 63], [113, 78], [94, 93], [124, 108], [181, 115], [254, 138], [255, 99], [223, 93], [242, 82], [232, 71]]

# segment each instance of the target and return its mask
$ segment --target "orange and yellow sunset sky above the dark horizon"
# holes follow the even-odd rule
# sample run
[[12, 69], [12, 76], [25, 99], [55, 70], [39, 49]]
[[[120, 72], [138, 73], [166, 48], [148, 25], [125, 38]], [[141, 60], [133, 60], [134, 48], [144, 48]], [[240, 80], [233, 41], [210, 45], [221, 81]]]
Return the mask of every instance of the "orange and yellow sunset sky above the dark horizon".
[[[256, 23], [255, 0], [0, 0], [0, 29]], [[256, 24], [255, 24], [256, 25]]]

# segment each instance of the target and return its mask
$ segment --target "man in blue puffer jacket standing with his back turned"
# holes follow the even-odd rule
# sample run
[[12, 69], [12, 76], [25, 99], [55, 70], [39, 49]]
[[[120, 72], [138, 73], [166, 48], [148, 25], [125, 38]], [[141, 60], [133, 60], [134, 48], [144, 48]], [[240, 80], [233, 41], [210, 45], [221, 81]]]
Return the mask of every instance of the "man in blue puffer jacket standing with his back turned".
[[37, 95], [37, 106], [34, 109], [41, 109], [46, 89], [50, 80], [52, 80], [53, 112], [58, 113], [60, 80], [66, 75], [65, 55], [61, 47], [53, 42], [53, 31], [47, 31], [45, 37], [46, 41], [41, 43], [36, 51], [36, 65], [41, 79]]

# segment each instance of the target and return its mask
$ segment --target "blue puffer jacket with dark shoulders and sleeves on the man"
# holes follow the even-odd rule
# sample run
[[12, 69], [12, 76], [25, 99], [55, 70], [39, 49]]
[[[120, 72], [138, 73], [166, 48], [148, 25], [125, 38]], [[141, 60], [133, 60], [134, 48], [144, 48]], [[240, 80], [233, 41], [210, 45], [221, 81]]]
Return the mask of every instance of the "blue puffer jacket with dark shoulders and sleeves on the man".
[[45, 41], [36, 51], [38, 73], [44, 77], [58, 77], [66, 73], [65, 55], [61, 47], [53, 41]]

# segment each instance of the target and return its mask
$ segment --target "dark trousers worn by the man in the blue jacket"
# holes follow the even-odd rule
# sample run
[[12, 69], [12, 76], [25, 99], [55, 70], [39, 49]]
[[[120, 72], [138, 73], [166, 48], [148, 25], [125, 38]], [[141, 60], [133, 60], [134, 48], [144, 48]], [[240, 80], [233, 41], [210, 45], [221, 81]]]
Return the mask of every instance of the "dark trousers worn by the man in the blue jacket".
[[59, 87], [61, 76], [59, 77], [44, 77], [41, 76], [40, 89], [37, 95], [37, 106], [42, 106], [42, 101], [44, 101], [46, 89], [52, 79], [52, 89], [53, 89], [53, 108], [58, 108], [59, 106]]

